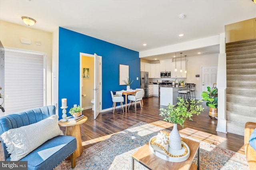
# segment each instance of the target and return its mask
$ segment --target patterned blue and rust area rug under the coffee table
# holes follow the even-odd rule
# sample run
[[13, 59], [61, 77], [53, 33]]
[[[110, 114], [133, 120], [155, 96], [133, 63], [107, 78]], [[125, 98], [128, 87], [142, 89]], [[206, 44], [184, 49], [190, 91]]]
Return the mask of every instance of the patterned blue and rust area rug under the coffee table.
[[[132, 154], [156, 136], [164, 127], [140, 122], [111, 136], [88, 149], [76, 158], [74, 170], [131, 170]], [[189, 138], [181, 135], [182, 138]], [[197, 139], [192, 139], [198, 141]], [[248, 170], [246, 156], [218, 146], [200, 142], [200, 170]], [[193, 160], [197, 164], [197, 156]], [[135, 170], [146, 170], [134, 162]], [[65, 160], [56, 170], [72, 170], [70, 160]]]

